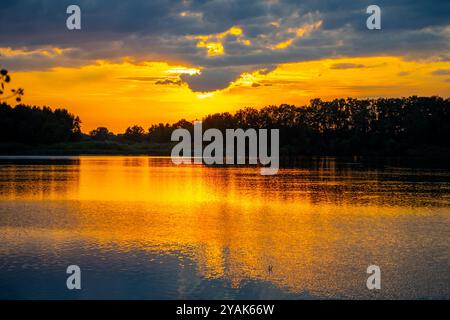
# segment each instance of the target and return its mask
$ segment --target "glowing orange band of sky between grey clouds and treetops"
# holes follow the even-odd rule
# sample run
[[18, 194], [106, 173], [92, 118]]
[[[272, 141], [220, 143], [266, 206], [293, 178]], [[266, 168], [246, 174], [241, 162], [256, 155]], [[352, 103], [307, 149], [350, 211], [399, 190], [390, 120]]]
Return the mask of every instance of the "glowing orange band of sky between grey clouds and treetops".
[[[392, 56], [326, 59], [281, 64], [267, 74], [244, 73], [226, 89], [197, 93], [179, 77], [200, 69], [124, 59], [121, 63], [98, 61], [79, 68], [15, 72], [13, 84], [25, 89], [26, 104], [63, 107], [79, 115], [84, 132], [106, 126], [120, 133], [134, 124], [147, 129], [154, 123], [194, 120], [246, 106], [302, 105], [316, 97], [448, 97], [448, 76], [435, 72], [446, 69], [450, 69], [448, 61], [408, 61]], [[158, 79], [169, 81], [157, 84]]]

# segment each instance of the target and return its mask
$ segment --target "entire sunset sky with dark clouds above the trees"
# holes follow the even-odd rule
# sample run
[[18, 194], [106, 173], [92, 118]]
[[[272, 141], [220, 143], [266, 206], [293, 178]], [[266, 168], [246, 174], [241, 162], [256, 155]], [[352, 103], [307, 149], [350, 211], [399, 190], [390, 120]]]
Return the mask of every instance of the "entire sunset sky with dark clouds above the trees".
[[[370, 4], [382, 30], [366, 28]], [[449, 97], [449, 13], [448, 0], [2, 0], [0, 67], [24, 103], [67, 108], [85, 132], [316, 97]]]

